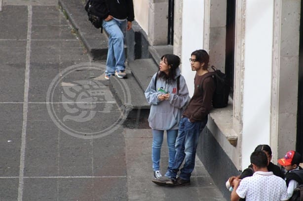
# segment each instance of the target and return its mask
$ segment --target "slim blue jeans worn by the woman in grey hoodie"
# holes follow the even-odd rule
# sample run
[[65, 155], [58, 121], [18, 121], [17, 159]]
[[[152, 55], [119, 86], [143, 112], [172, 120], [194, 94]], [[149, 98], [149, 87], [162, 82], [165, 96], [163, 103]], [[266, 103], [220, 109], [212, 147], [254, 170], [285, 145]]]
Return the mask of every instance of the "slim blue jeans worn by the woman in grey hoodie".
[[[167, 146], [168, 146], [168, 170], [171, 170], [176, 154], [175, 142], [178, 135], [178, 130], [167, 130]], [[152, 147], [151, 147], [151, 160], [153, 171], [160, 170], [160, 154], [163, 142], [163, 130], [152, 129]]]

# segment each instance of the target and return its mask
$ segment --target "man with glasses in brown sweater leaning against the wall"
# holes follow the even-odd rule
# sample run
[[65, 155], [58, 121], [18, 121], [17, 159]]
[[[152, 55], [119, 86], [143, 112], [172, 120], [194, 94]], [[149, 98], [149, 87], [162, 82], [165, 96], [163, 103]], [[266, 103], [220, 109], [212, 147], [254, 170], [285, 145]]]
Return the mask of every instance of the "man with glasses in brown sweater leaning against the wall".
[[[207, 75], [209, 73], [209, 56], [205, 50], [196, 50], [191, 53], [189, 61], [191, 70], [196, 71], [194, 92], [179, 122], [173, 169], [168, 170], [165, 176], [152, 180], [158, 185], [183, 186], [190, 184], [198, 138], [207, 123], [207, 115], [212, 109], [215, 83], [213, 78]], [[183, 161], [185, 161], [184, 166], [176, 179]]]

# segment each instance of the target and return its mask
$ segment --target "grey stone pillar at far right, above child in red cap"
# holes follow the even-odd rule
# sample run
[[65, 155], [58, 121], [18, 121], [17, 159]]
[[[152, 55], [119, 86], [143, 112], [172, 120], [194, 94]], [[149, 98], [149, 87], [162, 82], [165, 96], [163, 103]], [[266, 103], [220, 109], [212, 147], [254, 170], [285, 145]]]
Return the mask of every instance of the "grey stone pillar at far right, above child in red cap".
[[[277, 2], [276, 2], [277, 5]], [[276, 6], [275, 5], [275, 6]], [[296, 148], [300, 8], [299, 0], [285, 0], [280, 4], [279, 82], [278, 88], [278, 157]], [[276, 16], [278, 17], [278, 16]]]

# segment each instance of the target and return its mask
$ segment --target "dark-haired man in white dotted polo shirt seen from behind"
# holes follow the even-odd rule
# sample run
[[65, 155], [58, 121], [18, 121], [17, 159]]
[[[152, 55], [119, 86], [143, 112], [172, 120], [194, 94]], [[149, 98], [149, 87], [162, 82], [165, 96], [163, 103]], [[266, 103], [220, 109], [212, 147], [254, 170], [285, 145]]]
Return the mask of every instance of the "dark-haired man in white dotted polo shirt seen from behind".
[[288, 201], [285, 181], [267, 171], [267, 156], [264, 151], [254, 151], [250, 156], [253, 176], [233, 181], [230, 201], [246, 198], [246, 201]]

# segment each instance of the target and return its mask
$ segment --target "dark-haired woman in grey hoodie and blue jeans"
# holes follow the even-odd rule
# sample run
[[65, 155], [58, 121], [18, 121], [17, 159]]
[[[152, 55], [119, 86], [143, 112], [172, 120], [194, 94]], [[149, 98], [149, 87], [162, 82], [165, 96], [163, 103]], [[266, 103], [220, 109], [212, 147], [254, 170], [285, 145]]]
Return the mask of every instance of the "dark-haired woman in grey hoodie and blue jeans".
[[154, 178], [162, 176], [159, 162], [165, 130], [169, 153], [168, 169], [173, 166], [178, 124], [183, 108], [189, 101], [188, 87], [184, 77], [180, 74], [179, 65], [178, 56], [163, 55], [159, 63], [159, 71], [152, 76], [145, 91], [145, 97], [151, 104], [149, 124], [152, 129], [151, 160]]

